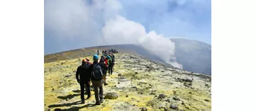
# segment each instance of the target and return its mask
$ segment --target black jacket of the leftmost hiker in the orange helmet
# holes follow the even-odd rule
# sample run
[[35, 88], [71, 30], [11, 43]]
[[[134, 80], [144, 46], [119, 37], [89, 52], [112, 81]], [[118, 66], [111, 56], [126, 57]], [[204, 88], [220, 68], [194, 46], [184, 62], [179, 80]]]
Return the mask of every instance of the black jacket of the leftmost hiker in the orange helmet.
[[80, 82], [89, 82], [91, 80], [90, 65], [86, 63], [77, 67], [75, 78]]

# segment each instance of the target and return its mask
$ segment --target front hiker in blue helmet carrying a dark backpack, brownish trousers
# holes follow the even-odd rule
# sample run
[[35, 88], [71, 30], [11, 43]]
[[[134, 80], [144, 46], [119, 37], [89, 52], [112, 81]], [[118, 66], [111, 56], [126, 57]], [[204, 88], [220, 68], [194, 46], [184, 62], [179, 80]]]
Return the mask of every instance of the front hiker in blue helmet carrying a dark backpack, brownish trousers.
[[[104, 63], [98, 63], [98, 55], [93, 55], [93, 64], [90, 65], [91, 82], [95, 90], [95, 105], [100, 105], [103, 102], [103, 86], [102, 86], [102, 69], [108, 69]], [[98, 89], [100, 89], [98, 91]]]

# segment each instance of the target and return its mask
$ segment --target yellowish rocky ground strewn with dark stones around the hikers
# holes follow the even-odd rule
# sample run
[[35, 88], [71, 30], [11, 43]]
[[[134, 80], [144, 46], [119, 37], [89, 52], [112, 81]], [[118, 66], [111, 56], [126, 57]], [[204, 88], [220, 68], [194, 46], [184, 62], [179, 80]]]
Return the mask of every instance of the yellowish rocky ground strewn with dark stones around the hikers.
[[129, 54], [116, 54], [104, 103], [93, 106], [91, 91], [91, 99], [81, 104], [75, 71], [82, 59], [45, 63], [45, 110], [211, 110], [211, 76]]

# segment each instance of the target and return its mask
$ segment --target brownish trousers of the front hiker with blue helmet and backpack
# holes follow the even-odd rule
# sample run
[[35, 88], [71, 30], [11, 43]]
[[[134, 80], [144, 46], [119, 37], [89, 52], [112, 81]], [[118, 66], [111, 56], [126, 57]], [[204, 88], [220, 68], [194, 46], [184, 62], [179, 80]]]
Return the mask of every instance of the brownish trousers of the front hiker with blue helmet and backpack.
[[[102, 80], [92, 80], [93, 82], [93, 88], [95, 89], [95, 100], [96, 103], [100, 103], [100, 99], [103, 99], [103, 86], [102, 86]], [[100, 89], [100, 91], [98, 91]]]

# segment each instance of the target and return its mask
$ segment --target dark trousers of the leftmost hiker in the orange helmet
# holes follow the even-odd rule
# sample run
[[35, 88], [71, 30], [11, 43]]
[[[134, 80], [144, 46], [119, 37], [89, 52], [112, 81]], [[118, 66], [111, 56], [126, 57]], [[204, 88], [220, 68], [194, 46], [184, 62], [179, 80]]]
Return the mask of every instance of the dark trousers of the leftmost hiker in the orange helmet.
[[89, 96], [91, 96], [90, 82], [80, 82], [80, 91], [81, 91], [81, 101], [85, 101], [85, 91]]

